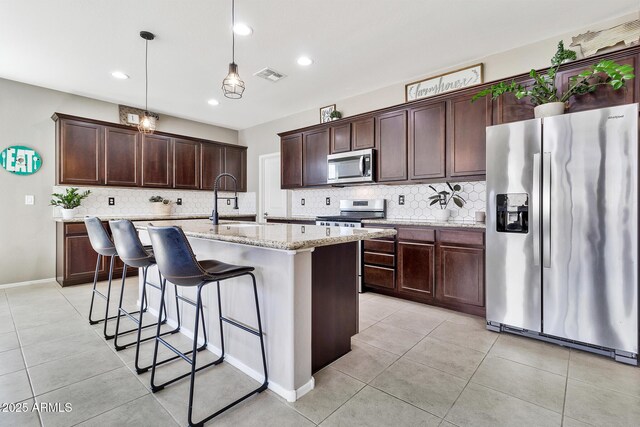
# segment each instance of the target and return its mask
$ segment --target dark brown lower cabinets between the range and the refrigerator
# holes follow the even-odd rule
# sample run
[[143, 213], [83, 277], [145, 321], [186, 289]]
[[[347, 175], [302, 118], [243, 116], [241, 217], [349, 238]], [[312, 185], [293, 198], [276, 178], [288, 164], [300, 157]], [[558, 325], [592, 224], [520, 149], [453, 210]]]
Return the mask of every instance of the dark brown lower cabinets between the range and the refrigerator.
[[484, 231], [449, 227], [397, 227], [397, 231], [397, 243], [364, 242], [365, 289], [484, 316]]

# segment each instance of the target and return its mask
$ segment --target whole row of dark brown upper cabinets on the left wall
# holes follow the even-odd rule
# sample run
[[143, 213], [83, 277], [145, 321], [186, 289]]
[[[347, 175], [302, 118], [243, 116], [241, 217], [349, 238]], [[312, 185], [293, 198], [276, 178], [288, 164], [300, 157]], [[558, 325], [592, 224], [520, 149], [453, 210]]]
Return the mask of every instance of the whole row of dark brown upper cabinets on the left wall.
[[[222, 172], [247, 191], [247, 148], [55, 113], [56, 183], [212, 190]], [[222, 179], [221, 189], [232, 190]]]

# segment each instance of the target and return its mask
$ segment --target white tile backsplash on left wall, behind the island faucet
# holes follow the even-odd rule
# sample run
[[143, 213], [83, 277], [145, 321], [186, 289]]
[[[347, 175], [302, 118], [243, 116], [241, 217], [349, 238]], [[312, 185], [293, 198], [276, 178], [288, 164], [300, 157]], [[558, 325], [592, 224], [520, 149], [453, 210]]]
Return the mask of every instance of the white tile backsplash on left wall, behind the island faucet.
[[[54, 186], [52, 193], [64, 193], [67, 187]], [[152, 214], [151, 196], [162, 196], [170, 199], [174, 214], [210, 214], [213, 210], [213, 191], [189, 191], [167, 189], [137, 189], [112, 187], [81, 187], [81, 191], [91, 190], [88, 198], [82, 201], [77, 216], [83, 215], [146, 215]], [[220, 192], [221, 197], [233, 196], [233, 193]], [[109, 206], [109, 197], [115, 198], [115, 206]], [[175, 202], [182, 199], [182, 205]], [[220, 213], [251, 214], [256, 213], [256, 193], [238, 193], [239, 210], [233, 209], [233, 200], [227, 205], [226, 200], [218, 201]], [[54, 209], [54, 216], [60, 216], [59, 210]]]

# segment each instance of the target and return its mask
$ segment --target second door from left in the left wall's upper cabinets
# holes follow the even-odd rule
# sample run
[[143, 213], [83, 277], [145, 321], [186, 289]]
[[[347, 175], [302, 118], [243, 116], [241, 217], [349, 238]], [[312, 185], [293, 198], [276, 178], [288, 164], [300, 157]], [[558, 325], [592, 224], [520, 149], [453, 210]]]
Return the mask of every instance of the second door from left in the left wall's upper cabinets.
[[104, 156], [106, 185], [140, 185], [140, 133], [137, 130], [106, 127]]

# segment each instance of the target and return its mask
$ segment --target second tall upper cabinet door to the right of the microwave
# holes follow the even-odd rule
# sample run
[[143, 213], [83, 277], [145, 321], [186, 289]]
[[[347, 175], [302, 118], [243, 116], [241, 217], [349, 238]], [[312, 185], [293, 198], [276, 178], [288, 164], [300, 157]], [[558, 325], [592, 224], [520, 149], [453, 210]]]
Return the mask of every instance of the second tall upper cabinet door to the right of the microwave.
[[444, 178], [446, 103], [409, 110], [409, 178]]

